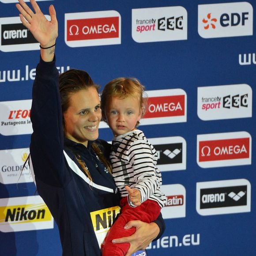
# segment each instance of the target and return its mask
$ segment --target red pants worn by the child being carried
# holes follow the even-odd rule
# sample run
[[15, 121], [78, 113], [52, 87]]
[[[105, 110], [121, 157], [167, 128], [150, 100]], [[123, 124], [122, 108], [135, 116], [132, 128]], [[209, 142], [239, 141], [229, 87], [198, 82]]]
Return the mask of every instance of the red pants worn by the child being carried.
[[135, 208], [129, 206], [128, 198], [123, 197], [120, 202], [121, 214], [110, 228], [102, 245], [102, 256], [124, 256], [130, 248], [130, 243], [113, 244], [112, 240], [120, 237], [129, 237], [136, 228], [125, 230], [124, 226], [131, 220], [140, 220], [151, 223], [160, 214], [161, 207], [153, 200], [147, 200]]

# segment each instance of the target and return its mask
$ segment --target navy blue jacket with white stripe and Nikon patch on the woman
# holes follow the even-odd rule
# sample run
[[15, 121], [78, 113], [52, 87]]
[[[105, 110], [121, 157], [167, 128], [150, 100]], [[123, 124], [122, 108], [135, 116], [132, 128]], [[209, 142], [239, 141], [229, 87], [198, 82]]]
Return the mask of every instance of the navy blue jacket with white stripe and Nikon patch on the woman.
[[[64, 138], [58, 76], [55, 58], [52, 62], [40, 59], [33, 85], [30, 169], [37, 191], [59, 227], [63, 255], [100, 256], [100, 233], [117, 217], [120, 195], [113, 177], [94, 153], [92, 142], [85, 147]], [[105, 141], [94, 142], [103, 152], [109, 152]], [[86, 163], [93, 183], [75, 154]], [[164, 231], [162, 216], [156, 222], [160, 236]]]

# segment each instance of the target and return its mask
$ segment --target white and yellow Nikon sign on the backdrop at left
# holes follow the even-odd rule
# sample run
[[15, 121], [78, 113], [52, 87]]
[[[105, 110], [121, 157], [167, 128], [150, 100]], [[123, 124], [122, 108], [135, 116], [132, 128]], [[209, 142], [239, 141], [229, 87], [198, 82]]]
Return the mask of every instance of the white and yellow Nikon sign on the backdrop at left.
[[53, 216], [40, 196], [0, 199], [0, 231], [53, 229]]

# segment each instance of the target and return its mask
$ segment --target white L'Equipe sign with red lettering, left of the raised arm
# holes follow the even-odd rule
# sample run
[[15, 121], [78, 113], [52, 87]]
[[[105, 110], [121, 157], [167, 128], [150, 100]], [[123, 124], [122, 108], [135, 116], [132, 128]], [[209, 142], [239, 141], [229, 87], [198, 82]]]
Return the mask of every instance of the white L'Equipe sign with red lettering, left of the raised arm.
[[0, 102], [0, 133], [4, 136], [31, 134], [30, 121], [32, 100]]

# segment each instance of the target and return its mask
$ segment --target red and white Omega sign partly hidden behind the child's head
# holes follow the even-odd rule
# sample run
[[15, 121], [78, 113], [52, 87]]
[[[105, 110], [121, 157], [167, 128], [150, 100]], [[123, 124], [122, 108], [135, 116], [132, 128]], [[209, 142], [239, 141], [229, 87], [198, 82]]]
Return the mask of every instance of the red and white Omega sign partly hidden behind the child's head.
[[[187, 94], [182, 89], [148, 90], [147, 110], [140, 125], [187, 121]], [[100, 128], [108, 128], [101, 122]]]

